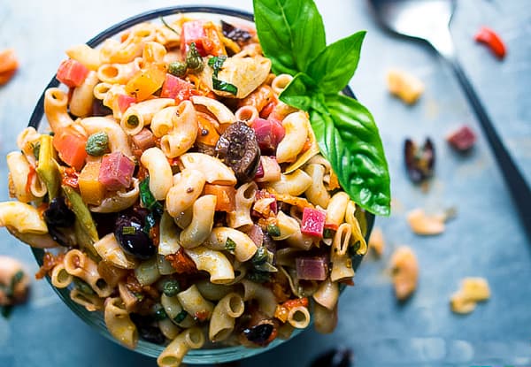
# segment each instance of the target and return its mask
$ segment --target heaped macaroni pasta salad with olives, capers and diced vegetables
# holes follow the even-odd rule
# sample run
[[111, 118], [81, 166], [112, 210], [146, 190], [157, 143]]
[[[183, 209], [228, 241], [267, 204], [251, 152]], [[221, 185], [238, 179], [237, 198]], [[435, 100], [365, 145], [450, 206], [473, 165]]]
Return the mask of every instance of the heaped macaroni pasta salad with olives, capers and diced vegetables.
[[41, 276], [120, 343], [165, 346], [159, 366], [265, 347], [312, 312], [330, 333], [366, 252], [308, 114], [279, 100], [293, 78], [272, 73], [250, 24], [232, 26], [172, 16], [67, 50], [48, 126], [7, 156], [0, 226], [45, 248]]

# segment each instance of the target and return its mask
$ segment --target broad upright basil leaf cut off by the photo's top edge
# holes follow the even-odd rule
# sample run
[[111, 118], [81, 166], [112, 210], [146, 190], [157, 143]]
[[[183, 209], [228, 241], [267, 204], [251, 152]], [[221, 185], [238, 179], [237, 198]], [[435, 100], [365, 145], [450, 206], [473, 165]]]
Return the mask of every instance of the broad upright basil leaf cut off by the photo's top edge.
[[253, 0], [260, 45], [274, 73], [305, 72], [327, 44], [325, 27], [312, 0]]

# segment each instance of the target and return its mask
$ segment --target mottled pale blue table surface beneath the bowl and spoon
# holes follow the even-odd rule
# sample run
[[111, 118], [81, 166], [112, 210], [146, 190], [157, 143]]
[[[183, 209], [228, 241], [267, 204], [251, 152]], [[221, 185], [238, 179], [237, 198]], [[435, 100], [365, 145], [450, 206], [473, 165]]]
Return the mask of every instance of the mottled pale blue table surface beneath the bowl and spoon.
[[[366, 258], [356, 286], [342, 294], [340, 323], [331, 335], [304, 332], [295, 340], [242, 362], [242, 366], [307, 366], [327, 348], [351, 348], [358, 367], [371, 366], [531, 366], [531, 243], [496, 168], [489, 147], [450, 70], [419, 42], [389, 36], [373, 22], [365, 1], [318, 0], [327, 41], [360, 29], [368, 31], [358, 72], [350, 82], [381, 128], [394, 198], [390, 218], [378, 218], [387, 240], [381, 260]], [[42, 89], [65, 57], [64, 50], [89, 40], [121, 19], [175, 4], [219, 1], [111, 2], [0, 1], [0, 50], [13, 47], [20, 69], [0, 87], [0, 201], [8, 199], [4, 156]], [[251, 10], [250, 0], [223, 4]], [[503, 61], [473, 41], [482, 26], [494, 28], [507, 44]], [[473, 82], [519, 168], [531, 181], [531, 6], [527, 0], [458, 2], [451, 31], [466, 74]], [[414, 106], [386, 91], [385, 73], [398, 67], [426, 84]], [[467, 124], [479, 134], [471, 154], [459, 156], [444, 141]], [[402, 156], [406, 137], [435, 141], [435, 178], [427, 192], [407, 179]], [[531, 205], [531, 203], [529, 203]], [[405, 221], [416, 207], [454, 206], [458, 215], [445, 233], [419, 237]], [[419, 287], [398, 304], [386, 271], [398, 245], [419, 258]], [[0, 231], [0, 255], [15, 256], [35, 272], [29, 248]], [[489, 280], [492, 297], [470, 315], [450, 311], [449, 297], [466, 276]], [[45, 281], [33, 281], [27, 304], [9, 319], [0, 318], [0, 366], [155, 366], [105, 340], [59, 301]]]

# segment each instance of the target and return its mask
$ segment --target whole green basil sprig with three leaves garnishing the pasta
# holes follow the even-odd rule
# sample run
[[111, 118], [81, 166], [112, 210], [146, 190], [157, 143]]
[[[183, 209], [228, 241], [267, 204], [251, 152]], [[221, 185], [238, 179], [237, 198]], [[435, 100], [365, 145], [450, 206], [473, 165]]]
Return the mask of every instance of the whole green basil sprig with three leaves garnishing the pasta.
[[352, 200], [389, 215], [389, 168], [378, 127], [366, 107], [340, 94], [356, 72], [365, 32], [327, 45], [312, 0], [253, 0], [253, 5], [273, 72], [294, 76], [281, 101], [309, 113], [319, 150]]

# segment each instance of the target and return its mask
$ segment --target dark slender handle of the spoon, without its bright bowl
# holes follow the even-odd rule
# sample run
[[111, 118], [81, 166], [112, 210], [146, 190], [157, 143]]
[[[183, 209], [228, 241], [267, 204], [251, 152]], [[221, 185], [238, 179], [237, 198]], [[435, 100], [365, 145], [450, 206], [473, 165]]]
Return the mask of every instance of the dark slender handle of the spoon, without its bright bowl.
[[512, 160], [511, 155], [500, 140], [492, 122], [485, 111], [485, 107], [481, 104], [480, 99], [476, 95], [470, 81], [466, 78], [465, 72], [459, 65], [456, 57], [445, 57], [449, 62], [453, 72], [458, 78], [461, 88], [463, 88], [468, 102], [471, 104], [478, 120], [480, 121], [483, 133], [489, 141], [490, 147], [493, 150], [496, 163], [500, 171], [503, 173], [505, 183], [509, 187], [512, 195], [512, 200], [519, 210], [519, 217], [527, 231], [528, 238], [531, 239], [531, 190], [527, 185], [526, 179], [519, 171], [517, 165]]

